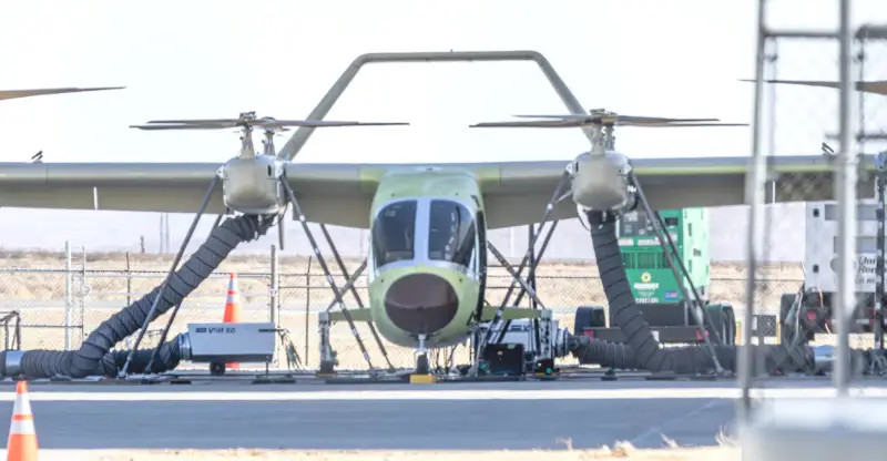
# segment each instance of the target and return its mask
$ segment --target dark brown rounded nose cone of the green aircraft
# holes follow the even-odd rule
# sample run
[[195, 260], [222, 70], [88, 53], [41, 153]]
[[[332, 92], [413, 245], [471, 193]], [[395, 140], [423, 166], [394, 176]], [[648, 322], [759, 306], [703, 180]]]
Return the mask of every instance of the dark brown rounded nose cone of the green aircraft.
[[385, 313], [398, 328], [432, 334], [456, 317], [459, 298], [445, 278], [434, 274], [404, 276], [385, 294]]

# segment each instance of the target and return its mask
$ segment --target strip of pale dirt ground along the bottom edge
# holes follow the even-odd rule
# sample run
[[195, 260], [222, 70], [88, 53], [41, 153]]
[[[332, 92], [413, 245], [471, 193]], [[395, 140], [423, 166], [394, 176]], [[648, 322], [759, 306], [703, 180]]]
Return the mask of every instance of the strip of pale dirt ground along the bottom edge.
[[533, 450], [533, 451], [303, 451], [303, 450], [40, 450], [41, 460], [70, 461], [136, 461], [136, 460], [436, 460], [436, 461], [711, 461], [740, 460], [735, 447], [669, 448], [638, 450], [631, 447], [601, 448], [598, 450]]

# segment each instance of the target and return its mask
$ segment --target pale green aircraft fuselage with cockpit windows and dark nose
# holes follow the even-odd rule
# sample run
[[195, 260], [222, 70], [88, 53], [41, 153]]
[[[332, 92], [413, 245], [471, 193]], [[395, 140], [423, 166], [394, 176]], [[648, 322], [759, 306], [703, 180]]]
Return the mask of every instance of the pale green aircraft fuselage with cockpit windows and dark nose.
[[381, 178], [370, 206], [368, 279], [370, 316], [383, 337], [418, 347], [424, 334], [429, 348], [467, 338], [486, 274], [482, 213], [477, 178], [468, 172], [401, 171]]

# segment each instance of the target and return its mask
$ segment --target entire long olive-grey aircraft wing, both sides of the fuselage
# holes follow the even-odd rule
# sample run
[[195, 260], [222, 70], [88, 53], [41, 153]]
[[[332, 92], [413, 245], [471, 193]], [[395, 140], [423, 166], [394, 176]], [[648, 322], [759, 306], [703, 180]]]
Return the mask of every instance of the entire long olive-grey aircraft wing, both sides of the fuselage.
[[[745, 203], [747, 157], [639, 158], [632, 162], [656, 209]], [[491, 228], [538, 223], [568, 161], [442, 164], [480, 184]], [[863, 158], [875, 170], [874, 156]], [[218, 163], [0, 163], [0, 207], [195, 213]], [[308, 221], [366, 228], [379, 180], [416, 164], [289, 163], [286, 175]], [[425, 165], [428, 166], [428, 165]], [[772, 158], [776, 202], [834, 199], [834, 166], [823, 155]], [[874, 196], [861, 175], [857, 196]], [[767, 188], [766, 202], [772, 201]], [[224, 213], [218, 185], [206, 209]], [[553, 218], [577, 217], [568, 197]]]

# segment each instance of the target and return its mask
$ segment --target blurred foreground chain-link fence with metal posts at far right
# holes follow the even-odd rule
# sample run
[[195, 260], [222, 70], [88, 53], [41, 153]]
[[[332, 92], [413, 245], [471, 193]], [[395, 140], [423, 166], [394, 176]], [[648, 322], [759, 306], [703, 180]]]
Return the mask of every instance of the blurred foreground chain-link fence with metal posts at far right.
[[[836, 382], [846, 382], [843, 377], [849, 375], [861, 378], [863, 357], [876, 344], [876, 285], [884, 274], [877, 267], [883, 239], [876, 221], [878, 162], [871, 162], [871, 154], [885, 146], [887, 96], [866, 93], [871, 89], [859, 82], [884, 80], [887, 29], [864, 24], [883, 22], [887, 10], [883, 2], [855, 1], [853, 17], [859, 20], [848, 20], [855, 38], [845, 40], [838, 33], [838, 16], [817, 20], [781, 2], [763, 2], [762, 8], [764, 22], [756, 25], [763, 59], [757, 71], [763, 79], [755, 83], [752, 151], [762, 158], [763, 174], [751, 175], [750, 185], [756, 187], [747, 191], [754, 203], [748, 219], [756, 226], [746, 224], [752, 230], [745, 240], [752, 249], [747, 276], [754, 278], [746, 281], [751, 288], [746, 293], [754, 299], [771, 297], [772, 287], [758, 281], [766, 279], [762, 273], [786, 247], [803, 242], [801, 280], [774, 305], [783, 344], [795, 345], [792, 350], [813, 346], [806, 350], [815, 360], [786, 356], [778, 369], [833, 373]], [[847, 98], [842, 82], [849, 86]], [[792, 173], [781, 166], [795, 163], [792, 157], [797, 155], [814, 161]], [[763, 194], [756, 193], [758, 186]], [[844, 319], [849, 348], [858, 354], [818, 347], [839, 346]], [[855, 365], [844, 373], [850, 356]], [[745, 409], [752, 407], [747, 390], [767, 382], [753, 383], [764, 369], [745, 372], [750, 369], [740, 373]]]

